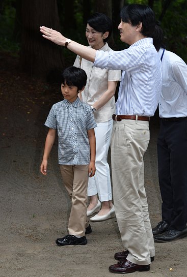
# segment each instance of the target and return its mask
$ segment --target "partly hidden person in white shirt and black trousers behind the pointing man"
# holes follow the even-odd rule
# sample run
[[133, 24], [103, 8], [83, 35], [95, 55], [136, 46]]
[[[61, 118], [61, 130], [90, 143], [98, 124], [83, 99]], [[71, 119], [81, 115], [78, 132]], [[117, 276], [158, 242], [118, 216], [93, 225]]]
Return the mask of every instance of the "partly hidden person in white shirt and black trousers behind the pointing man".
[[163, 30], [153, 39], [162, 58], [161, 127], [157, 141], [162, 221], [152, 229], [154, 240], [167, 242], [187, 236], [187, 66], [164, 49]]

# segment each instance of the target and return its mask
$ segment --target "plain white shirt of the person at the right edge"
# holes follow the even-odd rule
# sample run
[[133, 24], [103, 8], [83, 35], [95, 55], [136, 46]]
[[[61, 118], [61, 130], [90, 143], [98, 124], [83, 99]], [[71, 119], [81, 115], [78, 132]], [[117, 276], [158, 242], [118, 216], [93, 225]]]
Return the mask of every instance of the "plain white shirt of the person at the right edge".
[[[162, 56], [163, 49], [158, 51]], [[173, 52], [165, 50], [162, 59], [162, 94], [159, 99], [160, 117], [187, 116], [187, 65]]]

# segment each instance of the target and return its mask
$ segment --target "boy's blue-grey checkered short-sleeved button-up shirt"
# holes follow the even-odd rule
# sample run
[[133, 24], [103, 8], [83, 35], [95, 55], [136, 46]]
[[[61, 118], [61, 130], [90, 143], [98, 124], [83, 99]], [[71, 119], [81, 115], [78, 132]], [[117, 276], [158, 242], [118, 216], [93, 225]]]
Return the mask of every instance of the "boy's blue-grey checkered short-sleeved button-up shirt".
[[97, 127], [92, 109], [77, 98], [73, 103], [63, 100], [54, 104], [45, 126], [58, 130], [58, 155], [61, 165], [90, 163], [87, 130]]

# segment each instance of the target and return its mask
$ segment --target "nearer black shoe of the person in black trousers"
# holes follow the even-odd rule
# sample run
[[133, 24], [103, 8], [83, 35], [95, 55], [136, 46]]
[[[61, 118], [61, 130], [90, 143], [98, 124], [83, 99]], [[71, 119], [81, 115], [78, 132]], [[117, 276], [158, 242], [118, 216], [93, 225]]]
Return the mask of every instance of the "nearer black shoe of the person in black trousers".
[[169, 229], [161, 235], [155, 235], [154, 240], [156, 242], [168, 242], [185, 236], [187, 236], [187, 227], [182, 231]]

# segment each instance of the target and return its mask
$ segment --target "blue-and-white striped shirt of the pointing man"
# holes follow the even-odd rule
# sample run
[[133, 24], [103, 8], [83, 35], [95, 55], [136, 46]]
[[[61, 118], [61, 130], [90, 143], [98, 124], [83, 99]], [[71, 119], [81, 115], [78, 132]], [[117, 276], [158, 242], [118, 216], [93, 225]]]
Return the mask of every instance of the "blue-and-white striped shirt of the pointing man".
[[153, 116], [161, 95], [161, 60], [152, 44], [144, 38], [122, 51], [97, 51], [95, 67], [123, 70], [117, 114]]

